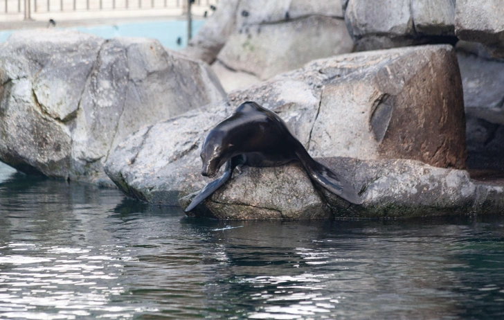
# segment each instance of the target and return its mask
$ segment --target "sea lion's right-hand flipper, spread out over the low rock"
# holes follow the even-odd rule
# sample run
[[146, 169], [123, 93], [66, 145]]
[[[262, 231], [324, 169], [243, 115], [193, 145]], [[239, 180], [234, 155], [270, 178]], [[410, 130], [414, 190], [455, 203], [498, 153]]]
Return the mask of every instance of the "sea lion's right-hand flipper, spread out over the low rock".
[[336, 172], [313, 160], [310, 166], [305, 166], [314, 181], [352, 204], [363, 204], [364, 200], [355, 188]]

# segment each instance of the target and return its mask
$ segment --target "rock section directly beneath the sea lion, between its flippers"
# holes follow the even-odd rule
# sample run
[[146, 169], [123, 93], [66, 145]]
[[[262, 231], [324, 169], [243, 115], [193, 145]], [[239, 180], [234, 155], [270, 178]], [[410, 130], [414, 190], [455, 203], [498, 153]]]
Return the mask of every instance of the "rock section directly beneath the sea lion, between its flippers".
[[[194, 195], [194, 194], [193, 194]], [[189, 204], [192, 195], [181, 199]], [[329, 219], [329, 206], [299, 163], [273, 168], [243, 168], [188, 215], [231, 220]]]

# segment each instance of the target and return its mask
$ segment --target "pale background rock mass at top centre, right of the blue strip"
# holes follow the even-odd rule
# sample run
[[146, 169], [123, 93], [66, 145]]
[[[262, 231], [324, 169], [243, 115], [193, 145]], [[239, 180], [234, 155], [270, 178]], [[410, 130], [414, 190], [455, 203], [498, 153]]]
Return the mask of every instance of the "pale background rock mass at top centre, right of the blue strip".
[[229, 92], [353, 46], [340, 0], [230, 0], [182, 53], [213, 62]]

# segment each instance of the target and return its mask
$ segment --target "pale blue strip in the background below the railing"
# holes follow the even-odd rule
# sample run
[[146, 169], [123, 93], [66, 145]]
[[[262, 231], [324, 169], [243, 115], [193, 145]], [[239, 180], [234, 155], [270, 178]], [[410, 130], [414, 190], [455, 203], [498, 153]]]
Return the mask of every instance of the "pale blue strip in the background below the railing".
[[[192, 35], [195, 35], [204, 23], [205, 20], [193, 20]], [[112, 26], [82, 26], [64, 29], [79, 30], [82, 33], [91, 33], [92, 35], [98, 35], [98, 37], [105, 39], [113, 37], [153, 38], [158, 39], [163, 46], [172, 50], [179, 50], [187, 45], [187, 21], [185, 20], [143, 21]], [[6, 42], [8, 37], [15, 31], [16, 30], [0, 31], [0, 42]], [[181, 44], [177, 44], [177, 39], [179, 37], [182, 40]]]

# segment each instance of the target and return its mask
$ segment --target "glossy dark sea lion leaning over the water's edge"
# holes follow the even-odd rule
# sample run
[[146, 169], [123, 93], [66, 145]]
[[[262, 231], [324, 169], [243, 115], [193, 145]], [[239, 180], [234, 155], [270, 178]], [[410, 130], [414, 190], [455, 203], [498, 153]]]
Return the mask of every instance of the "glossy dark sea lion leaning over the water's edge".
[[236, 167], [281, 166], [291, 161], [300, 161], [310, 179], [331, 193], [352, 204], [363, 203], [350, 182], [310, 157], [282, 118], [252, 101], [242, 103], [232, 116], [208, 132], [201, 161], [201, 175], [205, 177], [215, 177], [224, 163], [226, 169], [224, 175], [201, 189], [186, 212], [231, 179]]

